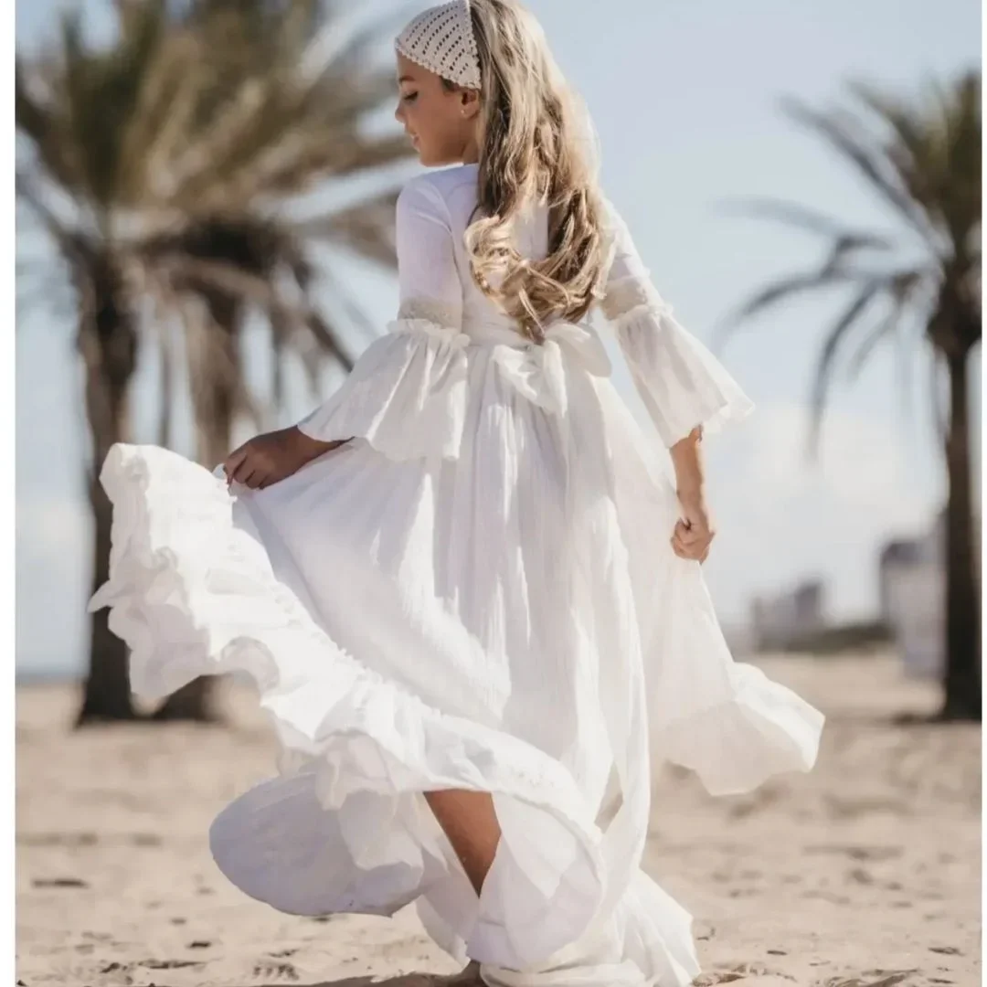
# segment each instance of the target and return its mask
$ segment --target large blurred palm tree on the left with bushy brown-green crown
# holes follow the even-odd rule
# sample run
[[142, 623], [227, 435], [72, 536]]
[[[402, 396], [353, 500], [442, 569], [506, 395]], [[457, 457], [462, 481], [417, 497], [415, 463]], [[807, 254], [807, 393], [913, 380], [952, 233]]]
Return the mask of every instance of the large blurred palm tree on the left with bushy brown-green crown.
[[[323, 66], [299, 70], [309, 39], [331, 26], [314, 0], [115, 6], [109, 48], [87, 45], [78, 15], [65, 15], [54, 49], [16, 66], [19, 199], [55, 246], [77, 300], [94, 587], [108, 575], [112, 516], [98, 472], [114, 442], [132, 436], [141, 347], [162, 343], [171, 369], [176, 320], [167, 315], [187, 317], [198, 452], [214, 465], [236, 416], [257, 414], [239, 354], [249, 313], [266, 316], [277, 354], [294, 347], [309, 367], [317, 354], [350, 362], [339, 326], [311, 304], [307, 245], [393, 264], [393, 182], [304, 222], [285, 205], [320, 181], [343, 182], [410, 153], [403, 139], [365, 126], [393, 89], [391, 71], [368, 57], [373, 30]], [[149, 300], [161, 319], [146, 318]], [[204, 709], [193, 684], [163, 712]], [[125, 649], [102, 611], [92, 620], [79, 721], [132, 717]]]

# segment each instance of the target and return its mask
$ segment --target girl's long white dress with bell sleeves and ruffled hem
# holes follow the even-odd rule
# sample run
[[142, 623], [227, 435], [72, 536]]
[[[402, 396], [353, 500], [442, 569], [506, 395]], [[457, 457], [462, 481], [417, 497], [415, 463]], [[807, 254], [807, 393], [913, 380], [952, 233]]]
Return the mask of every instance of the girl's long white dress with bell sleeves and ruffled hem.
[[[263, 491], [115, 446], [109, 582], [91, 607], [135, 692], [252, 675], [278, 776], [212, 826], [219, 868], [283, 912], [390, 915], [488, 983], [680, 985], [689, 914], [641, 870], [650, 777], [714, 794], [808, 770], [822, 716], [734, 663], [674, 491], [588, 323], [528, 344], [473, 283], [476, 166], [397, 210], [401, 311], [300, 422], [352, 440]], [[651, 286], [609, 212], [600, 308], [666, 446], [751, 404]], [[516, 229], [544, 257], [545, 210]], [[479, 900], [421, 793], [493, 793]]]

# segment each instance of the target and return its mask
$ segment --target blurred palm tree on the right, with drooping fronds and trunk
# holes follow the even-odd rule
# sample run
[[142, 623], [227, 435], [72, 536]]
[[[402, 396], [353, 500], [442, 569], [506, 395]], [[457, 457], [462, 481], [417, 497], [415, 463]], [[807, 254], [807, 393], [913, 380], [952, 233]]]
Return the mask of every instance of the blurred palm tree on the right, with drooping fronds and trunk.
[[980, 593], [970, 474], [968, 375], [980, 342], [980, 76], [969, 72], [949, 89], [933, 87], [909, 103], [870, 86], [851, 87], [855, 110], [821, 113], [790, 104], [790, 114], [863, 176], [898, 220], [895, 234], [851, 228], [798, 205], [752, 203], [753, 211], [821, 235], [821, 266], [768, 285], [731, 323], [792, 296], [844, 288], [849, 304], [820, 353], [811, 398], [810, 447], [838, 357], [850, 350], [851, 374], [874, 346], [916, 320], [949, 378], [943, 451], [949, 478], [946, 524], [946, 664], [940, 717], [981, 718]]

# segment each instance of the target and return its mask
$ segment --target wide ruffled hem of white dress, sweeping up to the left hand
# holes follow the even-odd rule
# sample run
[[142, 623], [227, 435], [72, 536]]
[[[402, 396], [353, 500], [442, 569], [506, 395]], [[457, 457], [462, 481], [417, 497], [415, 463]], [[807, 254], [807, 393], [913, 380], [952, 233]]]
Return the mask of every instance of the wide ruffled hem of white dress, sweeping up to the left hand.
[[[245, 519], [234, 524], [235, 501], [223, 480], [165, 449], [117, 444], [101, 482], [114, 504], [111, 577], [89, 609], [111, 607], [110, 627], [131, 648], [136, 693], [161, 697], [200, 675], [246, 672], [276, 727], [282, 770], [310, 775], [321, 806], [342, 810], [341, 818], [348, 799], [368, 795], [383, 797], [386, 821], [396, 797], [493, 793], [503, 838], [463, 937], [469, 954], [525, 968], [579, 937], [604, 897], [605, 865], [600, 832], [559, 762], [509, 734], [441, 713], [343, 651], [274, 576]], [[427, 884], [424, 865], [411, 891], [408, 879], [402, 889], [380, 869], [361, 871], [373, 834], [344, 828], [342, 852], [355, 862], [357, 886], [326, 889], [322, 908], [391, 914], [423, 893], [416, 879]], [[266, 866], [244, 863], [257, 850], [227, 855], [224, 872], [264, 897], [238, 874]], [[358, 885], [361, 877], [367, 887]], [[504, 914], [519, 900], [520, 922]], [[453, 927], [466, 921], [444, 917]]]

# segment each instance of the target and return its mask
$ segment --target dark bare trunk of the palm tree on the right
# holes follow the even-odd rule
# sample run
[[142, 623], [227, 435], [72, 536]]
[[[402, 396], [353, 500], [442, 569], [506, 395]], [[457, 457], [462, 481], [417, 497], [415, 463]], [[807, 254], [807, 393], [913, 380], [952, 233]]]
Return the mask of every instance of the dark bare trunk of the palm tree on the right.
[[949, 354], [950, 416], [946, 456], [949, 502], [946, 521], [945, 720], [980, 721], [980, 593], [974, 570], [973, 491], [970, 476], [969, 350]]

